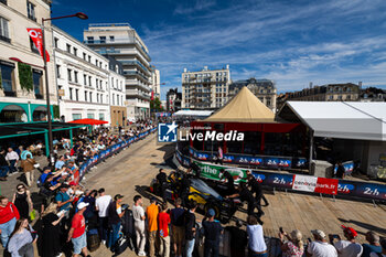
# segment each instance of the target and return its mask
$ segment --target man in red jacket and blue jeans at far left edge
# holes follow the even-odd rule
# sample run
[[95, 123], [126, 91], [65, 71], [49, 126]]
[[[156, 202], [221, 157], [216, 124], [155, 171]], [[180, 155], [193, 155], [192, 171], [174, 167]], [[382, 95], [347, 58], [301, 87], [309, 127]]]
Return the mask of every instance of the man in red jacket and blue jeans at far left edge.
[[6, 248], [17, 219], [20, 218], [19, 211], [6, 196], [0, 196], [0, 234], [1, 243]]

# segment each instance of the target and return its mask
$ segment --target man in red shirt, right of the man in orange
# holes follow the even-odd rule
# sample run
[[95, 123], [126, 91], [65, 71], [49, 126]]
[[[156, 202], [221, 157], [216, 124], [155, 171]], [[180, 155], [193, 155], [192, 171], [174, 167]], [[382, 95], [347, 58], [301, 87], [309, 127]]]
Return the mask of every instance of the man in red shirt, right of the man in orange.
[[158, 229], [160, 235], [160, 256], [170, 256], [170, 236], [169, 236], [169, 224], [170, 215], [167, 213], [168, 204], [162, 204], [161, 212], [158, 214]]

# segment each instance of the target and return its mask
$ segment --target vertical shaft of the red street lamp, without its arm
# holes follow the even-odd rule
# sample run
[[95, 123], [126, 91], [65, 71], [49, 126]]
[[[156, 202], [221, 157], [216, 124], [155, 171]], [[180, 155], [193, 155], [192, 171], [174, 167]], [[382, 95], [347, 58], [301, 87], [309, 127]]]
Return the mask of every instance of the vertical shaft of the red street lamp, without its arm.
[[42, 49], [43, 49], [43, 61], [44, 61], [44, 75], [45, 75], [45, 99], [47, 105], [47, 121], [49, 121], [49, 162], [54, 163], [53, 156], [53, 138], [52, 138], [52, 121], [51, 121], [51, 104], [50, 104], [50, 86], [49, 86], [49, 72], [47, 72], [47, 58], [45, 54], [45, 34], [44, 34], [44, 18], [42, 18]]

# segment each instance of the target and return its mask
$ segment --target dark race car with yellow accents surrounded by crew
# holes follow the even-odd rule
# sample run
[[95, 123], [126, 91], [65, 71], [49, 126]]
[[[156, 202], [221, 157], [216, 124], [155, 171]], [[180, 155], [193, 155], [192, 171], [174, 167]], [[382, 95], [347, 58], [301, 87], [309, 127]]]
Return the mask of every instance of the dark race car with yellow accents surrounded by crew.
[[[174, 172], [168, 178], [168, 186], [164, 196], [167, 200], [175, 200], [179, 197], [179, 181], [181, 174]], [[214, 189], [208, 186], [203, 180], [197, 178], [190, 178], [190, 189], [187, 194], [187, 201], [195, 201], [199, 204], [200, 210], [206, 213], [210, 208], [213, 208], [216, 213], [215, 218], [221, 223], [228, 223], [240, 204], [237, 200], [224, 199]], [[160, 195], [160, 185], [157, 180], [153, 180], [150, 184], [150, 192]], [[187, 202], [186, 200], [183, 202]]]

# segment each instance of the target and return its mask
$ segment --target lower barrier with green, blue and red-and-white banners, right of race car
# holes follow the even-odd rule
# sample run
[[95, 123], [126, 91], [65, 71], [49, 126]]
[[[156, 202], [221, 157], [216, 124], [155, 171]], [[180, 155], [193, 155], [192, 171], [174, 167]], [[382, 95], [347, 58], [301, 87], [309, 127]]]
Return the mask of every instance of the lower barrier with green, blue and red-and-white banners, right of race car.
[[225, 169], [235, 179], [235, 183], [245, 181], [246, 171], [251, 170], [255, 178], [262, 183], [274, 189], [285, 189], [302, 192], [314, 192], [332, 195], [345, 195], [352, 197], [363, 197], [369, 200], [386, 201], [386, 184], [336, 180], [317, 178], [312, 175], [286, 174], [268, 171], [259, 171], [254, 169], [243, 169], [227, 165], [217, 165], [207, 162], [192, 160], [175, 150], [175, 158], [181, 165], [187, 168], [192, 162], [195, 162], [201, 168], [201, 176], [218, 181], [219, 170]]

